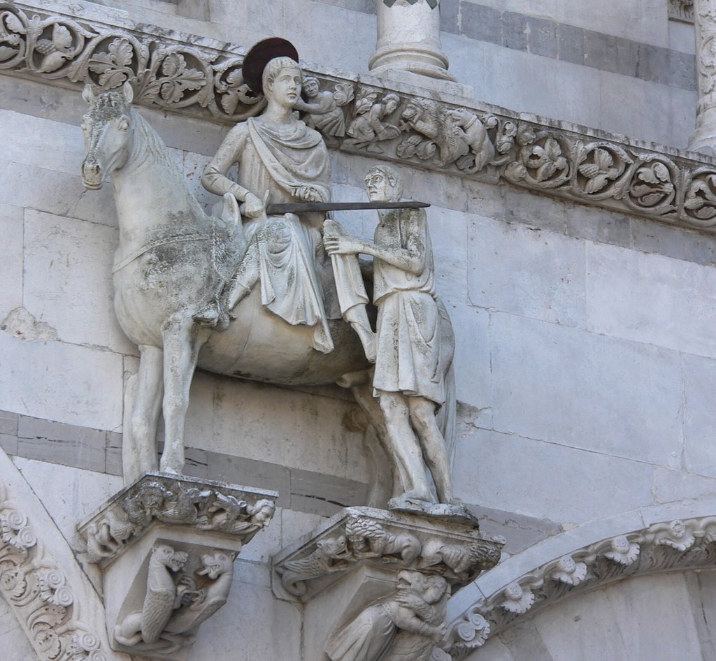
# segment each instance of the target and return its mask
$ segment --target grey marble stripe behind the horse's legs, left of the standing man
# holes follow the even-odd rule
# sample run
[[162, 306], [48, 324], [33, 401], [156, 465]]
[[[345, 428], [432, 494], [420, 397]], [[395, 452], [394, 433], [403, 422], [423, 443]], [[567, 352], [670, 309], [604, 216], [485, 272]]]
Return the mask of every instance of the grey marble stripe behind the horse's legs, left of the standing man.
[[[0, 411], [0, 447], [13, 456], [122, 474], [122, 434]], [[158, 454], [162, 450], [159, 444]], [[362, 505], [367, 484], [197, 448], [186, 449], [185, 474], [279, 491], [276, 504], [332, 516]]]

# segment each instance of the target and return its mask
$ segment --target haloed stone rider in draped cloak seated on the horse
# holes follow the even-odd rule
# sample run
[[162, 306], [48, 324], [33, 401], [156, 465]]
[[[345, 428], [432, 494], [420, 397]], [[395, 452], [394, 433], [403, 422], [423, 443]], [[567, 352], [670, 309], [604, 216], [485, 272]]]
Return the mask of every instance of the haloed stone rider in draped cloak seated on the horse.
[[[278, 56], [278, 57], [276, 57]], [[330, 353], [334, 344], [328, 319], [339, 318], [332, 263], [321, 260], [324, 212], [267, 215], [266, 205], [290, 202], [329, 202], [331, 172], [328, 150], [321, 134], [298, 119], [294, 107], [301, 98], [303, 74], [298, 54], [289, 41], [266, 39], [253, 46], [243, 63], [246, 84], [266, 98], [259, 117], [236, 124], [206, 167], [204, 187], [241, 202], [243, 232], [248, 242], [238, 270], [216, 303], [195, 318], [225, 328], [228, 313], [253, 285], [261, 285], [261, 303], [290, 324], [314, 327], [313, 346]], [[228, 177], [238, 165], [236, 182]], [[357, 258], [339, 267], [359, 273]], [[340, 285], [339, 285], [340, 286]], [[374, 358], [374, 333], [365, 312], [367, 297], [346, 302], [341, 312], [361, 339], [367, 356]], [[330, 306], [326, 300], [335, 300]], [[326, 309], [329, 308], [329, 309]]]

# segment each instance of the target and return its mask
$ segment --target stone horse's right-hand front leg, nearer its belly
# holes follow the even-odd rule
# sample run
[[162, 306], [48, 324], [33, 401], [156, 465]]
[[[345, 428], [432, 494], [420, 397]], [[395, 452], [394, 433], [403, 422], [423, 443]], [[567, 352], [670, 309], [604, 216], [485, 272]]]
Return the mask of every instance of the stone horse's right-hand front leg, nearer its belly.
[[159, 464], [163, 473], [181, 474], [184, 468], [184, 421], [189, 388], [194, 376], [199, 341], [191, 318], [168, 325], [164, 340], [164, 451]]

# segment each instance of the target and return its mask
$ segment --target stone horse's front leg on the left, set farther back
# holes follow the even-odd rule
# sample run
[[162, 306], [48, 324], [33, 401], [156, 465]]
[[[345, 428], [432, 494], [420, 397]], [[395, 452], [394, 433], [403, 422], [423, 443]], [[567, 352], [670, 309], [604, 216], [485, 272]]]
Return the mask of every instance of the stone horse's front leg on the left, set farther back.
[[125, 485], [157, 469], [157, 421], [162, 400], [162, 350], [140, 346], [139, 372], [127, 380], [122, 474]]

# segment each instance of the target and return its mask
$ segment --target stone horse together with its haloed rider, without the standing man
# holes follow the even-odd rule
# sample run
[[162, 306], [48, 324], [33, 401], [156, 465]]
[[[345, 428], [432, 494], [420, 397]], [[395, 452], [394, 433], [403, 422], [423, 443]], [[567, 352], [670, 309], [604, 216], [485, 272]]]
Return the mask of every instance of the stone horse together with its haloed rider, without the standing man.
[[[120, 224], [112, 269], [115, 311], [122, 330], [140, 349], [139, 371], [127, 383], [128, 406], [133, 403], [122, 444], [125, 483], [156, 469], [160, 411], [165, 422], [160, 471], [181, 473], [189, 388], [199, 366], [287, 386], [351, 387], [395, 465], [393, 494], [449, 503], [449, 452], [443, 438], [450, 436], [455, 408], [450, 320], [438, 304], [431, 318], [440, 328], [435, 336], [440, 359], [431, 363], [431, 375], [441, 394], [428, 394], [427, 403], [410, 398], [418, 445], [412, 431], [398, 429], [402, 420], [393, 415], [395, 406], [377, 406], [373, 399], [366, 375], [375, 361], [376, 336], [362, 283], [361, 292], [352, 287], [360, 280], [357, 257], [320, 250], [322, 213], [276, 214], [269, 208], [327, 202], [331, 196], [324, 142], [294, 112], [303, 75], [297, 55], [271, 56], [258, 69], [250, 56], [244, 62], [246, 77], [253, 77], [252, 89], [265, 94], [267, 105], [261, 116], [227, 134], [205, 170], [203, 185], [223, 195], [223, 210], [211, 215], [188, 191], [158, 134], [132, 108], [130, 84], [121, 92], [95, 96], [88, 86], [83, 93], [89, 112], [82, 124], [87, 148], [82, 178], [89, 189], [112, 178]], [[247, 69], [250, 61], [256, 70]], [[228, 173], [237, 163], [235, 182]], [[431, 349], [435, 356], [437, 349]], [[385, 374], [394, 368], [382, 360], [376, 369]], [[376, 393], [390, 390], [375, 381], [373, 386]], [[400, 393], [394, 398], [402, 402]], [[445, 425], [435, 432], [440, 405]], [[425, 425], [429, 429], [422, 433]], [[425, 461], [437, 496], [427, 482]]]

